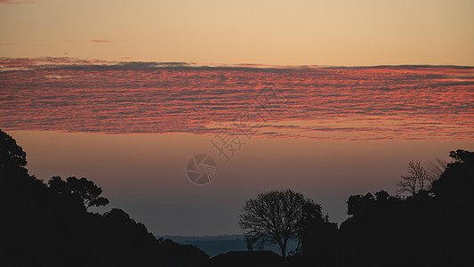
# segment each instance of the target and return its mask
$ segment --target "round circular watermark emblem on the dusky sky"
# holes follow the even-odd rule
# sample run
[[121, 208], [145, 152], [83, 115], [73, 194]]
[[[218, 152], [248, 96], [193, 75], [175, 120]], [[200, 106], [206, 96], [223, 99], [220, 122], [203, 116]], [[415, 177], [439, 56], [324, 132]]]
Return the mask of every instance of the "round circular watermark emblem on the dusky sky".
[[213, 182], [217, 174], [217, 163], [207, 154], [197, 154], [188, 159], [185, 170], [189, 182], [205, 185]]

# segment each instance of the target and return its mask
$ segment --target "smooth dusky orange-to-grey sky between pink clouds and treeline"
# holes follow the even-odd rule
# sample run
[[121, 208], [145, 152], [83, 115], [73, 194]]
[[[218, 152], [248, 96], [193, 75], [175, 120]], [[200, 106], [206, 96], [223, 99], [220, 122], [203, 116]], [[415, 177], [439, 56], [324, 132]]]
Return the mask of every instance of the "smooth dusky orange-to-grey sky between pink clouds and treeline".
[[[87, 177], [111, 201], [157, 235], [240, 233], [242, 205], [257, 193], [291, 188], [323, 206], [331, 221], [347, 218], [350, 195], [388, 190], [410, 160], [448, 160], [450, 150], [474, 150], [474, 142], [317, 141], [255, 138], [231, 162], [209, 146], [208, 135], [81, 134], [8, 131], [27, 152], [37, 178]], [[186, 161], [208, 153], [217, 177], [196, 186]]]

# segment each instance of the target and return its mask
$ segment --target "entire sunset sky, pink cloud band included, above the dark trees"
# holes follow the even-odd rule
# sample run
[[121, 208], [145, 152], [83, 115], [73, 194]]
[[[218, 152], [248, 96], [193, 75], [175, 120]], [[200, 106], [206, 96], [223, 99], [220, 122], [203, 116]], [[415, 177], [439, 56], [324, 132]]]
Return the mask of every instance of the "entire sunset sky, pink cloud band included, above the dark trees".
[[341, 223], [410, 160], [474, 150], [473, 1], [0, 0], [0, 25], [0, 128], [29, 173], [87, 177], [95, 211], [156, 235], [239, 233], [246, 199], [287, 188]]

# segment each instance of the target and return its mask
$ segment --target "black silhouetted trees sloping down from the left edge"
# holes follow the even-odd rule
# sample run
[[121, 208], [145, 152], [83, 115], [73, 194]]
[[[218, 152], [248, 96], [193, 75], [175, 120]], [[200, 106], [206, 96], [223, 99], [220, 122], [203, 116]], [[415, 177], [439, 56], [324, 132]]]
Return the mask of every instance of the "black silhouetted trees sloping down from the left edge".
[[102, 190], [85, 178], [48, 184], [28, 174], [26, 153], [0, 130], [1, 266], [201, 266], [193, 246], [157, 240], [123, 210], [105, 206]]

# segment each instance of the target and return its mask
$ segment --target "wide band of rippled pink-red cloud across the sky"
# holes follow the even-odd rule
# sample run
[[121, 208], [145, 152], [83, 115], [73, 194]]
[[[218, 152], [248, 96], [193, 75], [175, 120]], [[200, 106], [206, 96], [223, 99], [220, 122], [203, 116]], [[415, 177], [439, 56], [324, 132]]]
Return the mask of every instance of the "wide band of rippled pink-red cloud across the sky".
[[253, 112], [268, 137], [472, 141], [473, 110], [473, 67], [0, 59], [6, 130], [215, 134]]

